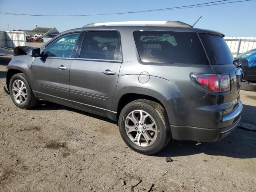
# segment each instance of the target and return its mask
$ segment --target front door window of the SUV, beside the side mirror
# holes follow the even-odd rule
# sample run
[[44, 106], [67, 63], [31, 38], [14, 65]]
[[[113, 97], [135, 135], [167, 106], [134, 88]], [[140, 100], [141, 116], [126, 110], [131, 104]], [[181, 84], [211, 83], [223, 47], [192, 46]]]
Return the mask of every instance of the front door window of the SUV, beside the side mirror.
[[79, 35], [80, 32], [66, 34], [57, 38], [48, 46], [46, 46], [46, 48], [44, 49], [44, 56], [71, 58]]

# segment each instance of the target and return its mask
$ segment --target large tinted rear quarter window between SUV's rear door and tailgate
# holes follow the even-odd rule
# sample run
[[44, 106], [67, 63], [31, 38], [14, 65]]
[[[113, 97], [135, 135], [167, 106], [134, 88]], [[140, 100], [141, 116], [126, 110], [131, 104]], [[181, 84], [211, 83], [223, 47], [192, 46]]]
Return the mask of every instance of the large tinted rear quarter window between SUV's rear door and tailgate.
[[208, 64], [195, 32], [134, 31], [142, 62]]

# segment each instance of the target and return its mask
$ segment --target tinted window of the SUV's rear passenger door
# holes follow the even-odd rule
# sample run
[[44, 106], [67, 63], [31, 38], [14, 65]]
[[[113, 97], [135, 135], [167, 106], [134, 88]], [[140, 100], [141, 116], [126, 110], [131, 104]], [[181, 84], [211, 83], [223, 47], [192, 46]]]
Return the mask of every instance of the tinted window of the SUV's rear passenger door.
[[86, 32], [79, 57], [86, 59], [122, 60], [118, 32]]

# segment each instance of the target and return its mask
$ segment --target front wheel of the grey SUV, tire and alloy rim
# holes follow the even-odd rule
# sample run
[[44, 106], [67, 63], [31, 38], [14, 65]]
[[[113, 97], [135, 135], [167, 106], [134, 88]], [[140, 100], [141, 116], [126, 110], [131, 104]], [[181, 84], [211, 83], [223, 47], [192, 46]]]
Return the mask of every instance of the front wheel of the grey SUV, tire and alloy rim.
[[[24, 83], [25, 88], [22, 82]], [[20, 91], [18, 91], [18, 87], [21, 87]], [[23, 73], [18, 73], [12, 76], [10, 79], [9, 90], [12, 101], [19, 108], [30, 109], [38, 104], [39, 99], [34, 96], [30, 84], [28, 83], [28, 80], [26, 80], [26, 76]], [[17, 95], [18, 100], [16, 99], [15, 95]]]

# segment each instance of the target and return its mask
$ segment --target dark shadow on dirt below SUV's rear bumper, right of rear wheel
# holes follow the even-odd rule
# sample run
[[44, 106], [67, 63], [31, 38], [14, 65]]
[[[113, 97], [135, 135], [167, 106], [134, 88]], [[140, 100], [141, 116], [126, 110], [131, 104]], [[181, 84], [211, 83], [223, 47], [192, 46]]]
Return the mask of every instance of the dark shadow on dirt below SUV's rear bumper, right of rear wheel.
[[[256, 127], [255, 114], [255, 106], [243, 105], [241, 122], [248, 122]], [[177, 157], [200, 153], [233, 158], [256, 158], [256, 131], [238, 126], [223, 140], [212, 143], [172, 140], [155, 156]]]

